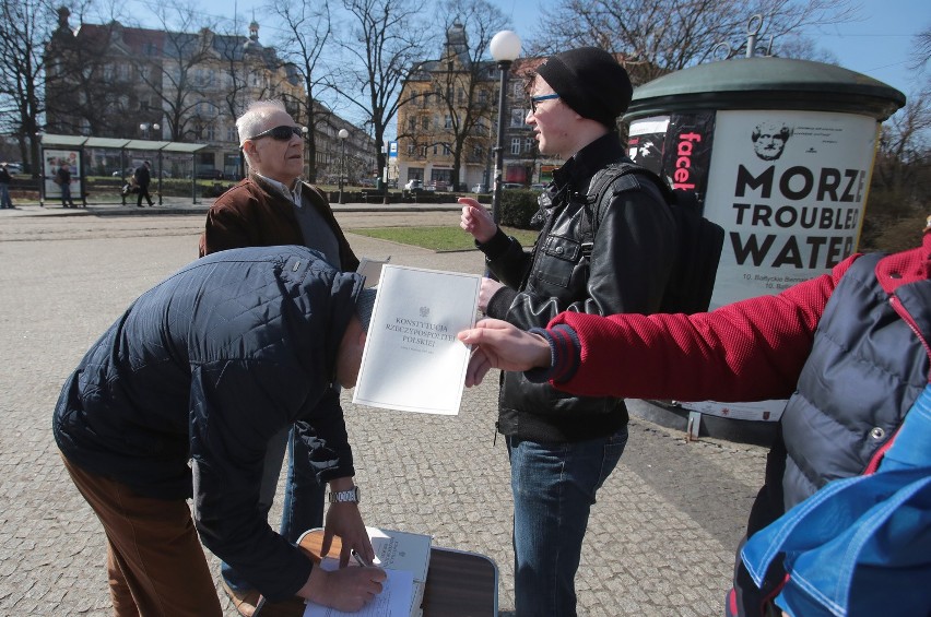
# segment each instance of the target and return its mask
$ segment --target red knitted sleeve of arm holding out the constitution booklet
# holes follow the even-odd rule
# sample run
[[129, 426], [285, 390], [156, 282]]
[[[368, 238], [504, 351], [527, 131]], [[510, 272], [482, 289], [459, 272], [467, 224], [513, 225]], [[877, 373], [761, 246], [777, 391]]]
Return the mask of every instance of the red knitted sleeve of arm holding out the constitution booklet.
[[858, 256], [777, 296], [685, 315], [564, 312], [580, 365], [555, 388], [588, 396], [679, 401], [788, 398], [811, 352], [824, 307]]

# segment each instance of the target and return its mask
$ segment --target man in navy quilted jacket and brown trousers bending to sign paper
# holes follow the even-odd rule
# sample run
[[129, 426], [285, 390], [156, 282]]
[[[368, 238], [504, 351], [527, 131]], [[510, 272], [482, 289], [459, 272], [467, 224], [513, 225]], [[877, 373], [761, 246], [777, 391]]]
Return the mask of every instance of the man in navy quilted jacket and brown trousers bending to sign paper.
[[142, 294], [94, 343], [54, 432], [104, 525], [115, 615], [222, 615], [201, 542], [272, 601], [354, 612], [380, 592], [382, 570], [314, 567], [258, 507], [268, 441], [296, 423], [320, 482], [346, 496], [328, 510], [325, 551], [337, 534], [343, 565], [351, 549], [375, 557], [332, 388], [355, 384], [374, 295], [310, 249], [223, 251]]

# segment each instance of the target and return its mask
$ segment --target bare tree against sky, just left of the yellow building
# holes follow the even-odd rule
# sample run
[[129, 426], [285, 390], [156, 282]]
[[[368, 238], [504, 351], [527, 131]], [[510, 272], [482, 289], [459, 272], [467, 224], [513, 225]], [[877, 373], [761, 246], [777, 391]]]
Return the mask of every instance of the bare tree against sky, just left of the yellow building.
[[400, 94], [408, 72], [422, 56], [419, 5], [414, 0], [343, 0], [343, 7], [351, 15], [351, 35], [342, 48], [357, 69], [345, 69], [332, 86], [372, 127], [378, 168], [384, 169], [385, 133], [404, 103]]

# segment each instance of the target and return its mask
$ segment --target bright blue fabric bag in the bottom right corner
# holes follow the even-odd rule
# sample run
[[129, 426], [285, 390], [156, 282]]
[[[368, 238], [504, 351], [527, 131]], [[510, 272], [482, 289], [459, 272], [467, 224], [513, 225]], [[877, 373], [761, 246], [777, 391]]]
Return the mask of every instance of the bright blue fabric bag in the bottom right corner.
[[792, 617], [931, 615], [931, 387], [875, 473], [828, 483], [741, 557], [757, 585], [781, 560], [775, 603]]

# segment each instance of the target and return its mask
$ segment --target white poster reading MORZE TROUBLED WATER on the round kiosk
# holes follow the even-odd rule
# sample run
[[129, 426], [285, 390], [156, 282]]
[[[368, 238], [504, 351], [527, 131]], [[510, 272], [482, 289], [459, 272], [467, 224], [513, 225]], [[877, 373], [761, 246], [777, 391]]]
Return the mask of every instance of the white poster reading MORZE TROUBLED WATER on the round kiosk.
[[711, 308], [828, 272], [857, 247], [876, 121], [718, 111], [705, 216], [724, 228]]

